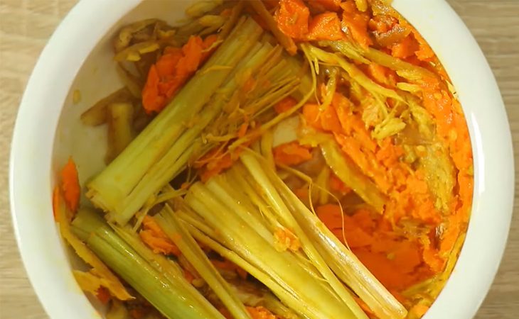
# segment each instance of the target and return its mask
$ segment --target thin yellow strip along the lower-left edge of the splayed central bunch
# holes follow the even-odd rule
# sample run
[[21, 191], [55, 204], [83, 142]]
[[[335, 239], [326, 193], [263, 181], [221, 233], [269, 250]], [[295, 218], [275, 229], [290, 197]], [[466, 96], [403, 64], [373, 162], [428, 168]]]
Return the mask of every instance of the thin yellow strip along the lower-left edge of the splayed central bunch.
[[188, 228], [191, 235], [193, 235], [193, 237], [198, 240], [198, 242], [201, 242], [203, 245], [210, 247], [211, 250], [218, 252], [220, 256], [228, 259], [234, 264], [237, 264], [243, 270], [245, 270], [245, 272], [261, 281], [285, 305], [297, 313], [303, 315], [304, 318], [323, 318], [321, 317], [321, 312], [319, 309], [315, 308], [315, 306], [311, 305], [310, 303], [301, 303], [301, 300], [297, 298], [297, 296], [284, 289], [283, 286], [278, 283], [278, 281], [272, 279], [272, 277], [269, 276], [268, 273], [263, 272], [261, 268], [253, 266], [250, 264], [250, 262], [247, 262], [247, 260], [240, 257], [239, 254], [236, 254], [235, 252], [232, 252], [232, 250], [228, 250], [223, 245], [220, 245], [219, 242], [213, 240], [211, 237], [208, 237], [193, 225], [186, 223], [186, 227]]

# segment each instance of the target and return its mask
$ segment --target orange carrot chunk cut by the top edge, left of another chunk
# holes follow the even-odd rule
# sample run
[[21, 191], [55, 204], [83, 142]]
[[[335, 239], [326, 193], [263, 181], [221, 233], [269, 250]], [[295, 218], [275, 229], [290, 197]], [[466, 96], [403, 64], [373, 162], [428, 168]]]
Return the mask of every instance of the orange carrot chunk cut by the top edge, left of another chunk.
[[308, 33], [310, 11], [302, 0], [280, 0], [274, 15], [279, 30], [291, 38], [303, 40]]

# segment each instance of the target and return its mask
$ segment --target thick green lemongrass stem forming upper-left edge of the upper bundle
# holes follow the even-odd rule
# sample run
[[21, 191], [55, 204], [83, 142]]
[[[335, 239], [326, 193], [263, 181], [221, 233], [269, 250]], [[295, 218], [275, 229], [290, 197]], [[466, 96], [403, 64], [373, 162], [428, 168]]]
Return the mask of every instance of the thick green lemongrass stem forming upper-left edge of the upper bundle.
[[[87, 196], [96, 206], [104, 211], [115, 212], [116, 215], [119, 213], [121, 208], [117, 209], [117, 204], [128, 196], [148, 169], [171, 148], [186, 130], [185, 123], [203, 108], [231, 72], [231, 69], [224, 68], [203, 74], [204, 70], [215, 65], [234, 68], [256, 45], [260, 35], [262, 29], [252, 19], [237, 24], [228, 39], [159, 116], [106, 169], [90, 181], [87, 185]], [[200, 87], [204, 89], [200, 91]], [[124, 223], [124, 218], [121, 221]]]

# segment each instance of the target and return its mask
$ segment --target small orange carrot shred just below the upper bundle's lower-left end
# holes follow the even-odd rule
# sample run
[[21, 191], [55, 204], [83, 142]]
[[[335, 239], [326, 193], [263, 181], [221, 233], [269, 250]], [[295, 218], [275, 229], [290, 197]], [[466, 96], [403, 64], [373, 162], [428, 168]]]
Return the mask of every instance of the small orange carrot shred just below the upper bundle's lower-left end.
[[156, 254], [173, 254], [180, 256], [178, 250], [168, 236], [162, 231], [153, 217], [145, 216], [142, 220], [143, 230], [139, 232], [141, 240], [146, 243]]

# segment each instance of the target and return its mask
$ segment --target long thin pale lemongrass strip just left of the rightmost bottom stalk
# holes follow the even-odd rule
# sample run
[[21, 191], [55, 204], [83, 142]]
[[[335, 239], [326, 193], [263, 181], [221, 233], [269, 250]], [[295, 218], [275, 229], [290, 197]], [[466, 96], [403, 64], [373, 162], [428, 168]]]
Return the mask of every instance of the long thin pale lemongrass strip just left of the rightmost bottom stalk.
[[282, 197], [279, 195], [277, 190], [275, 189], [272, 182], [269, 180], [267, 174], [265, 174], [265, 170], [262, 168], [262, 164], [257, 161], [255, 155], [250, 152], [243, 152], [240, 156], [241, 162], [247, 167], [249, 173], [255, 179], [257, 185], [261, 189], [261, 194], [264, 195], [264, 199], [272, 206], [273, 210], [279, 214], [279, 216], [284, 220], [284, 223], [287, 225], [287, 228], [292, 230], [295, 235], [301, 241], [301, 247], [303, 248], [306, 255], [309, 257], [311, 262], [314, 264], [316, 269], [319, 270], [321, 275], [328, 281], [328, 284], [332, 287], [333, 291], [337, 293], [337, 296], [341, 298], [341, 300], [348, 305], [348, 308], [351, 309], [355, 318], [368, 318], [362, 308], [358, 305], [358, 303], [353, 299], [351, 293], [349, 293], [344, 285], [339, 281], [333, 271], [328, 267], [326, 261], [323, 259], [321, 254], [319, 254], [316, 247], [307, 237], [301, 225], [299, 225], [296, 221], [296, 218], [292, 216], [291, 211], [284, 203]]

